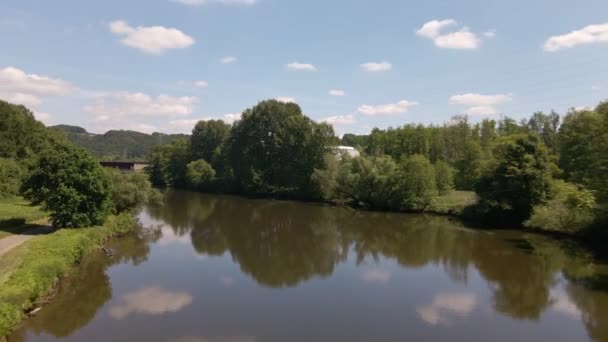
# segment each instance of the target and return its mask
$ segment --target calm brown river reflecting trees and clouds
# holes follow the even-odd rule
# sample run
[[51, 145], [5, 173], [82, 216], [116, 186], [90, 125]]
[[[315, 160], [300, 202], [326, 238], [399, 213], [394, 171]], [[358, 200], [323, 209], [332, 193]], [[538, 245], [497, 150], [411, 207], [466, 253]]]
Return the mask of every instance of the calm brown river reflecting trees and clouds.
[[608, 341], [572, 243], [187, 192], [86, 258], [9, 341]]

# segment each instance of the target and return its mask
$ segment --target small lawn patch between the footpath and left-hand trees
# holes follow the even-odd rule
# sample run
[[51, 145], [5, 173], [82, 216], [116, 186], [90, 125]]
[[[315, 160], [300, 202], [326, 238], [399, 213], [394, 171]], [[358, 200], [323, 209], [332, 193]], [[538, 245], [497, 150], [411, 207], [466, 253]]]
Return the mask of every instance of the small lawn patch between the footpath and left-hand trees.
[[45, 219], [47, 213], [21, 197], [0, 199], [0, 239], [18, 233], [26, 223]]

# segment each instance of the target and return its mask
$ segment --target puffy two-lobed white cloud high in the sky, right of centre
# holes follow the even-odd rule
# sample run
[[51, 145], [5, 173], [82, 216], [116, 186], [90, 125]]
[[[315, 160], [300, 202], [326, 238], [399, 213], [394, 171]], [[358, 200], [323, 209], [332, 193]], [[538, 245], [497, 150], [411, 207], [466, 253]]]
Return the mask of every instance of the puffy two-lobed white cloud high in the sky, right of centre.
[[[422, 25], [416, 31], [416, 34], [420, 37], [431, 39], [440, 48], [477, 49], [481, 43], [481, 39], [466, 26], [457, 31], [442, 33], [446, 28], [457, 25], [458, 22], [454, 19], [431, 20]], [[489, 34], [489, 32], [486, 33]]]

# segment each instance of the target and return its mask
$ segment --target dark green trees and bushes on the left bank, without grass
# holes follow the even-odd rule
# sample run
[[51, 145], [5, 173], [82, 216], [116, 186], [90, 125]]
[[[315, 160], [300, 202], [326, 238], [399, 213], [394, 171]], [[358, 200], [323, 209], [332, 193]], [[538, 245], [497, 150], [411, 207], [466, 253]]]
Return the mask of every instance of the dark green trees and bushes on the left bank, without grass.
[[21, 195], [58, 228], [101, 225], [158, 197], [144, 174], [104, 169], [30, 110], [0, 100], [0, 198]]

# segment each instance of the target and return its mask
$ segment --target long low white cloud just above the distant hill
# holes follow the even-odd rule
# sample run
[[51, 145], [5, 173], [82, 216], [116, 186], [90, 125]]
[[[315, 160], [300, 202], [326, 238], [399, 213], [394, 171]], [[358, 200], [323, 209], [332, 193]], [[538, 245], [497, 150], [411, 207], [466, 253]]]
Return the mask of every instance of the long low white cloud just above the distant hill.
[[198, 103], [195, 96], [152, 97], [144, 93], [120, 92], [103, 96], [85, 111], [96, 117], [180, 117], [192, 114]]

